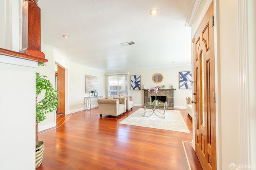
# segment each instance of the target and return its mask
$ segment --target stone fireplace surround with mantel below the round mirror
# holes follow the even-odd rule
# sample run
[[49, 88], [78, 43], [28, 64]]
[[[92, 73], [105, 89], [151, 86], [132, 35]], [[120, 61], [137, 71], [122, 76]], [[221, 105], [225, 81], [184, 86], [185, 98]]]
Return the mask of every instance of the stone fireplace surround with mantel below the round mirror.
[[148, 92], [147, 89], [144, 89], [144, 102], [151, 102], [150, 98], [151, 96], [166, 96], [166, 102], [168, 107], [166, 109], [168, 110], [174, 110], [174, 98], [173, 98], [173, 92], [176, 89], [158, 89], [158, 92], [155, 93], [154, 90], [151, 92]]

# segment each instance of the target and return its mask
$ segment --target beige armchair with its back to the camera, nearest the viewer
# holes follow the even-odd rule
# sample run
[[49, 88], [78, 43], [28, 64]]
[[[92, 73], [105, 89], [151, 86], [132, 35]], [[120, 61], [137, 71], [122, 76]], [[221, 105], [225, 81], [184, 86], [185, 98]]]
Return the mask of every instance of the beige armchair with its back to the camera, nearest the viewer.
[[126, 98], [98, 98], [98, 110], [100, 117], [110, 115], [117, 118], [118, 115], [124, 114], [126, 111]]

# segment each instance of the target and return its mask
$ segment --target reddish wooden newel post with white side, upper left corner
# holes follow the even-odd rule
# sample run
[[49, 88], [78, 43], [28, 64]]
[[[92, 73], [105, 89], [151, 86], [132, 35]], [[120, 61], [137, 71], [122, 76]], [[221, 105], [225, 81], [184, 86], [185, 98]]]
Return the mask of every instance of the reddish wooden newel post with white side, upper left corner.
[[22, 4], [22, 49], [21, 53], [45, 58], [41, 51], [41, 10], [37, 0]]

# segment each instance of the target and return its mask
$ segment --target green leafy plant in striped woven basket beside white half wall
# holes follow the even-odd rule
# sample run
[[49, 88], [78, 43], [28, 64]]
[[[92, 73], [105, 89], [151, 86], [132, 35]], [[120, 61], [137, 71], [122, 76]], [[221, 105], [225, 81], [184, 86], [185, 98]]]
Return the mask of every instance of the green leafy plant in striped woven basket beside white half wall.
[[[44, 65], [38, 63], [38, 66]], [[43, 98], [37, 102], [37, 97], [42, 92], [44, 92]], [[56, 110], [59, 106], [57, 94], [47, 76], [36, 72], [36, 168], [40, 166], [44, 156], [44, 142], [38, 141], [38, 123], [46, 119], [46, 113]]]

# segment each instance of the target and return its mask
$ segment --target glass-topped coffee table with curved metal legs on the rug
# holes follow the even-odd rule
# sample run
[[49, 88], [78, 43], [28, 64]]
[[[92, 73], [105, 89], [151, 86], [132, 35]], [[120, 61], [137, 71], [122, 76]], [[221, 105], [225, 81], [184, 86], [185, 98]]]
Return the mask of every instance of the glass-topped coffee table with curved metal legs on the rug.
[[[149, 117], [154, 113], [157, 117], [165, 118], [165, 107], [167, 107], [167, 102], [158, 103], [157, 105], [155, 105], [153, 102], [144, 102], [142, 106], [144, 106], [144, 117]], [[151, 108], [152, 111], [146, 111], [146, 108]], [[163, 112], [158, 111], [158, 109], [163, 109]], [[147, 115], [147, 113], [151, 114]]]

